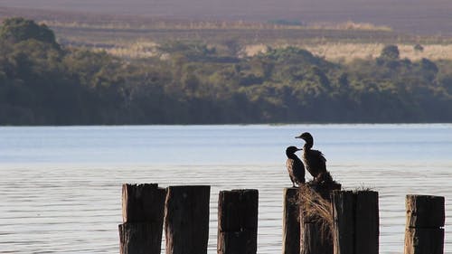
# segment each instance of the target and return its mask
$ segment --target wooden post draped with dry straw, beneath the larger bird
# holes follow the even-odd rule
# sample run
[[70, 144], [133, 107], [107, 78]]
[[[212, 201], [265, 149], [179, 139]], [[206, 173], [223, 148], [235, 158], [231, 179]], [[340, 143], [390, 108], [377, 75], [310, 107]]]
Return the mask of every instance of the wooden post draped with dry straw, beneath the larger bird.
[[[299, 190], [300, 197], [300, 253], [301, 254], [333, 254], [333, 240], [331, 227], [333, 213], [331, 212], [330, 194], [340, 190], [341, 184], [330, 183], [325, 185], [302, 184]], [[307, 203], [306, 203], [307, 202]], [[324, 212], [308, 212], [315, 207], [321, 207]], [[326, 221], [329, 222], [326, 222]], [[325, 225], [327, 224], [328, 225]]]

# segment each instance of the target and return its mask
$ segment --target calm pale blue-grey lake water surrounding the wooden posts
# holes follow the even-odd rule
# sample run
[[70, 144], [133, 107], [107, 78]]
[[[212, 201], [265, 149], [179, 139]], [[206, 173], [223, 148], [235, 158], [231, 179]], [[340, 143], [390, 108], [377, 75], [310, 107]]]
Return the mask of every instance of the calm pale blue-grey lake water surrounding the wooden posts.
[[118, 253], [121, 184], [259, 189], [258, 252], [281, 252], [287, 146], [302, 131], [347, 189], [380, 193], [380, 253], [403, 252], [405, 195], [446, 196], [452, 253], [452, 125], [0, 127], [0, 253]]

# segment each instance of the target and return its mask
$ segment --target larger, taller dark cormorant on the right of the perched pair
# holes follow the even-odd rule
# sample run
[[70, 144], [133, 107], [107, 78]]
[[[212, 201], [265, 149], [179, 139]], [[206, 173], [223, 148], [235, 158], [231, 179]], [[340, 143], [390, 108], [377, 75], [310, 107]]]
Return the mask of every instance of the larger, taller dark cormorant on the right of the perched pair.
[[314, 182], [333, 182], [331, 174], [326, 170], [325, 155], [320, 151], [312, 149], [314, 146], [313, 136], [310, 133], [305, 132], [300, 136], [296, 136], [296, 138], [305, 140], [301, 159], [307, 172], [314, 177]]

